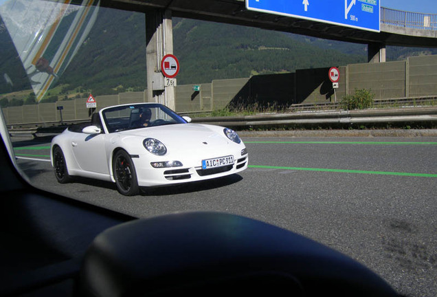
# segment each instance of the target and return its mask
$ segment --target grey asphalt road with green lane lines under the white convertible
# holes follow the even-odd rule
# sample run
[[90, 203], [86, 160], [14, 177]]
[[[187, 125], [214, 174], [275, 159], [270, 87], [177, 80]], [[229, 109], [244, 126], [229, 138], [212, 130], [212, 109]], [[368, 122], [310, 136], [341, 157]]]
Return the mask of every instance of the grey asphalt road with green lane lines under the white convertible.
[[[136, 197], [111, 183], [58, 184], [48, 143], [14, 142], [32, 184], [135, 217], [214, 210], [266, 221], [339, 250], [405, 296], [437, 295], [436, 137], [243, 137], [250, 167]], [[32, 149], [30, 149], [32, 148]], [[39, 148], [39, 149], [38, 149]]]

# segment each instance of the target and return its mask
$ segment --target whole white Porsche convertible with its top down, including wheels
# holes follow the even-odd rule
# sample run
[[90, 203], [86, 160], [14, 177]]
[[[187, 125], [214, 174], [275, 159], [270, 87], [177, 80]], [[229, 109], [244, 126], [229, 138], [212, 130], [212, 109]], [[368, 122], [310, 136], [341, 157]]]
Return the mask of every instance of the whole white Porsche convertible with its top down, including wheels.
[[91, 122], [53, 138], [56, 179], [113, 181], [122, 195], [131, 196], [140, 187], [212, 179], [247, 168], [247, 150], [235, 131], [190, 122], [156, 103], [104, 108]]

